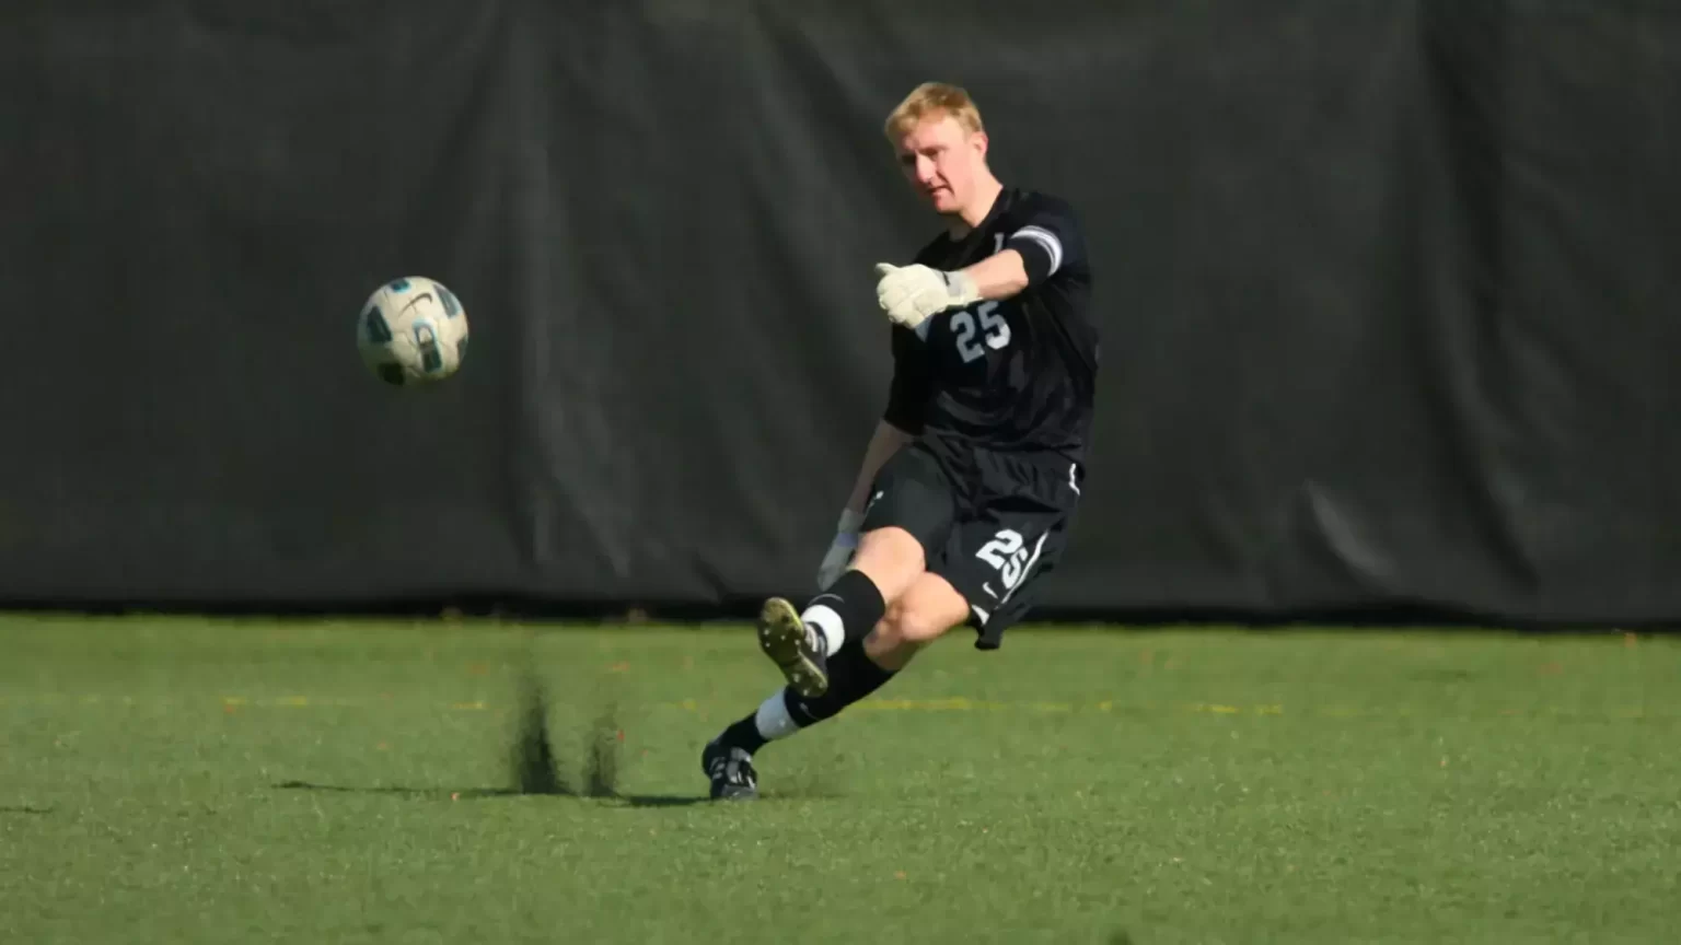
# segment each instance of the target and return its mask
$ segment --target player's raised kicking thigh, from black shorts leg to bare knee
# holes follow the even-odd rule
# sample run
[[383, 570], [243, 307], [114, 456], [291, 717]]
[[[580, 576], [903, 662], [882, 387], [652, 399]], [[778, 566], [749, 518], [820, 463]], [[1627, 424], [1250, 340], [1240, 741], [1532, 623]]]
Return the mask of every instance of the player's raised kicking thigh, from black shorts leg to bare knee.
[[916, 446], [899, 449], [876, 474], [852, 568], [891, 604], [938, 560], [955, 516], [956, 498], [940, 464]]

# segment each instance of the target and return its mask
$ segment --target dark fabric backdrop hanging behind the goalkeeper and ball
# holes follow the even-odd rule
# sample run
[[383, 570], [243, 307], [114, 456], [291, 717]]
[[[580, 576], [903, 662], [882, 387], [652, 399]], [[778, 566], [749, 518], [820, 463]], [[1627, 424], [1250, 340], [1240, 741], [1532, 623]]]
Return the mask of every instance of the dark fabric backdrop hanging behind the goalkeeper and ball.
[[[1659, 2], [8, 3], [0, 597], [809, 590], [938, 77], [1096, 261], [1041, 614], [1669, 620], [1678, 50]], [[429, 390], [353, 345], [403, 274], [474, 328]]]

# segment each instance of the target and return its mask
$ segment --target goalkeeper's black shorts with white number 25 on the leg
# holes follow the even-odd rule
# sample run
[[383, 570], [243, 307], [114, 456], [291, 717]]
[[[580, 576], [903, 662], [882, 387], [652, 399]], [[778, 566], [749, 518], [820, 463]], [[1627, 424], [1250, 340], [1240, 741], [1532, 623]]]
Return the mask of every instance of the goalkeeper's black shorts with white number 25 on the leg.
[[862, 531], [898, 526], [968, 600], [978, 649], [1032, 609], [1067, 545], [1084, 469], [1062, 454], [945, 454], [913, 442], [876, 474]]

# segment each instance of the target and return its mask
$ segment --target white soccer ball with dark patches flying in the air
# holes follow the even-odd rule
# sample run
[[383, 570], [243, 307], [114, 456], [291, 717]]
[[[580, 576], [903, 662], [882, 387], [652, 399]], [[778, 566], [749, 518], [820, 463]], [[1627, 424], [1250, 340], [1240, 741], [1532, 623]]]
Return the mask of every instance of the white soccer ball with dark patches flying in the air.
[[467, 358], [467, 311], [435, 279], [393, 279], [356, 316], [361, 363], [393, 387], [444, 380]]

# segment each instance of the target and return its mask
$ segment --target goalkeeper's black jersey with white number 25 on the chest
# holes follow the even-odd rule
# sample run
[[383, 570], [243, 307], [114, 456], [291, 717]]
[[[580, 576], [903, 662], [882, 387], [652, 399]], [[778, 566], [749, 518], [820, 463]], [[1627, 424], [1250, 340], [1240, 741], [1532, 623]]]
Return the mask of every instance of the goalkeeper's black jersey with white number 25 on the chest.
[[1088, 313], [1086, 245], [1069, 205], [1005, 188], [978, 227], [958, 240], [938, 235], [916, 262], [962, 269], [1009, 247], [1039, 259], [1044, 274], [1027, 289], [943, 311], [914, 331], [893, 326], [884, 419], [935, 447], [1052, 451], [1084, 461], [1098, 330]]

